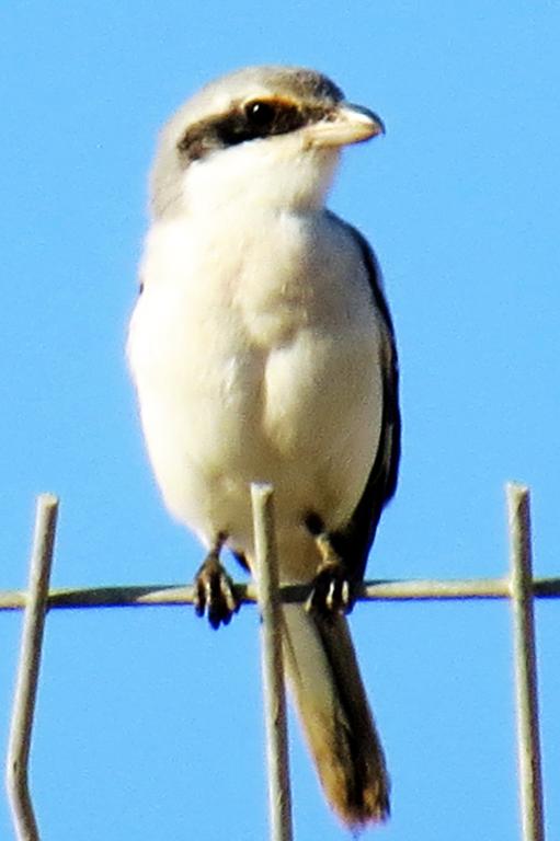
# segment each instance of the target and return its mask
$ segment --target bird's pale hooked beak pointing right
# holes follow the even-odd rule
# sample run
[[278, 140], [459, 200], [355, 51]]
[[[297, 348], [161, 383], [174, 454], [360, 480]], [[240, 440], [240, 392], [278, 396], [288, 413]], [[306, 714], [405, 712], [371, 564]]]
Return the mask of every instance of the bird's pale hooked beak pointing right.
[[307, 126], [304, 134], [308, 148], [347, 146], [385, 135], [385, 126], [373, 111], [342, 102], [329, 116]]

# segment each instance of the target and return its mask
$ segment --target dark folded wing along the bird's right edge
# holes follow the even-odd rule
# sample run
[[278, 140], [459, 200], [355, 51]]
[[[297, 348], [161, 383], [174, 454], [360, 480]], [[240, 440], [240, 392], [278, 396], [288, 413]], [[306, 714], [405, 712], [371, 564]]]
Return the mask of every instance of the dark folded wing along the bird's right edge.
[[367, 555], [377, 531], [381, 511], [395, 494], [401, 451], [401, 418], [399, 410], [399, 364], [391, 314], [381, 286], [381, 272], [367, 240], [352, 226], [338, 217], [358, 244], [367, 268], [375, 306], [384, 323], [382, 417], [379, 445], [364, 493], [350, 522], [344, 529], [331, 534], [332, 545], [344, 560], [354, 580], [364, 577]]

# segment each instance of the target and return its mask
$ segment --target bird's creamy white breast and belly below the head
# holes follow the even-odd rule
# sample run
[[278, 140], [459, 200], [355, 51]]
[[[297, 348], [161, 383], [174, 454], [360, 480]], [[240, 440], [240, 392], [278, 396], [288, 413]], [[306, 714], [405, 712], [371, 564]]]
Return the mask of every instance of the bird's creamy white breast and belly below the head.
[[375, 459], [380, 326], [345, 231], [325, 217], [256, 226], [227, 252], [184, 222], [153, 230], [128, 353], [170, 510], [251, 556], [249, 484], [272, 482], [283, 577], [306, 579], [302, 519], [343, 526]]

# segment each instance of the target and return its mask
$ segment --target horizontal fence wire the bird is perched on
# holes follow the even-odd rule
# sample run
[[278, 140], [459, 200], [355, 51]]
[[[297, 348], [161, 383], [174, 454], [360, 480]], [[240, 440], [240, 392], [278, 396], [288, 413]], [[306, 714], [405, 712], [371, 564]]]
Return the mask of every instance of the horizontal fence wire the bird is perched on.
[[[302, 602], [310, 585], [283, 585], [281, 598], [285, 603]], [[236, 584], [240, 602], [256, 602], [253, 584]], [[537, 599], [560, 597], [560, 578], [534, 578], [533, 594]], [[26, 603], [25, 590], [0, 590], [1, 610], [22, 610]], [[470, 579], [413, 579], [365, 581], [358, 590], [357, 601], [446, 601], [453, 599], [511, 598], [510, 578]], [[48, 609], [70, 608], [134, 608], [172, 607], [192, 604], [193, 586], [135, 585], [124, 587], [85, 587], [52, 589]]]

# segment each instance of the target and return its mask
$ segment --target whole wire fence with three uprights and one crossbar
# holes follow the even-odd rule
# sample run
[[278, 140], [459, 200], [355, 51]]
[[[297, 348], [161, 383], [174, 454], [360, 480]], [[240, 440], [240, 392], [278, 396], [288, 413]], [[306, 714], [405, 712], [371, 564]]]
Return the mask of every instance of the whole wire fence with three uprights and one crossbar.
[[[369, 581], [364, 600], [510, 599], [513, 613], [523, 841], [545, 841], [542, 771], [539, 745], [538, 686], [534, 599], [560, 597], [560, 577], [533, 577], [528, 488], [507, 484], [511, 572], [508, 577], [470, 580]], [[287, 748], [286, 698], [282, 657], [282, 600], [301, 601], [308, 587], [278, 587], [273, 488], [252, 484], [256, 590], [237, 585], [244, 602], [262, 613], [262, 670], [268, 770], [271, 841], [293, 841]], [[46, 611], [193, 603], [193, 587], [151, 585], [60, 589], [49, 592], [58, 500], [37, 499], [30, 581], [26, 591], [0, 592], [0, 611], [25, 611], [7, 754], [7, 790], [18, 841], [39, 841], [28, 791], [28, 760]]]

